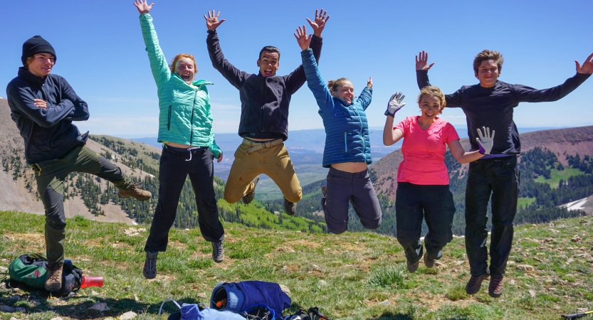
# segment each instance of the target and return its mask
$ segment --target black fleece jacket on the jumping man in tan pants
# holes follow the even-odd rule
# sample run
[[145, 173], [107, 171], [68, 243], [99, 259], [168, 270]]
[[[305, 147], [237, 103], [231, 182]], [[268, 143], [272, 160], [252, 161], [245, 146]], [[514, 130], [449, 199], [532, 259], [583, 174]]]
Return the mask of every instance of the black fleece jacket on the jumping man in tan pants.
[[[303, 65], [289, 75], [263, 77], [235, 68], [224, 58], [216, 31], [209, 31], [208, 53], [214, 69], [239, 90], [241, 99], [241, 137], [288, 139], [288, 105], [290, 96], [303, 86], [307, 78]], [[315, 59], [321, 55], [322, 38], [313, 35], [310, 48]]]

